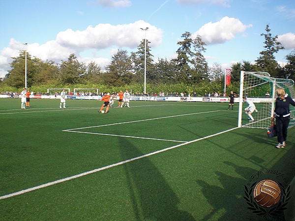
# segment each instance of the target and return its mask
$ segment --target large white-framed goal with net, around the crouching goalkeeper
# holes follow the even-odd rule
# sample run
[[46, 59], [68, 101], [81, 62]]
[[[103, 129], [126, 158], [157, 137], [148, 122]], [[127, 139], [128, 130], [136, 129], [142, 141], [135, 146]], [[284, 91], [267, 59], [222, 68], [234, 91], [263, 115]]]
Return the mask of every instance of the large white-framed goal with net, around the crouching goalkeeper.
[[[271, 78], [266, 72], [241, 71], [238, 127], [268, 128], [275, 108], [276, 89], [283, 88], [285, 92], [295, 98], [294, 81], [291, 79]], [[268, 95], [269, 94], [269, 95]], [[250, 122], [243, 107], [243, 97], [253, 101], [257, 112], [252, 116], [255, 121]], [[290, 105], [291, 121], [289, 128], [295, 126], [295, 107]]]

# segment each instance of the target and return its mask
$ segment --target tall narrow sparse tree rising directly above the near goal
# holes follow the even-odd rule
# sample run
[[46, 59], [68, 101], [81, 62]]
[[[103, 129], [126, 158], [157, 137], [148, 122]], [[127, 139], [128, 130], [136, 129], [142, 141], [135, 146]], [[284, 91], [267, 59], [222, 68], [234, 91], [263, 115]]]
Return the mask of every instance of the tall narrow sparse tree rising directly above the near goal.
[[280, 49], [284, 49], [280, 42], [277, 41], [278, 36], [274, 37], [270, 33], [269, 25], [266, 25], [266, 33], [262, 33], [261, 36], [265, 37], [264, 48], [265, 50], [260, 52], [260, 57], [256, 60], [256, 65], [259, 71], [266, 71], [272, 77], [278, 75], [278, 62], [275, 60], [274, 53], [277, 53]]

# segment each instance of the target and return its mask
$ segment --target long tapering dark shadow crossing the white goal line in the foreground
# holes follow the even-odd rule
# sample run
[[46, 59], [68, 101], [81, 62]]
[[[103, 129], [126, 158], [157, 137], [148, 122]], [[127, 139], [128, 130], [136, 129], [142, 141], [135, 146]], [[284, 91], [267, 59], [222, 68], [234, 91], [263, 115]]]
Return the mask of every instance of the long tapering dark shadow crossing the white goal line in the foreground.
[[[142, 153], [125, 138], [119, 138], [123, 160]], [[156, 166], [144, 157], [123, 165], [136, 220], [193, 221], [192, 215], [177, 208], [180, 200]]]

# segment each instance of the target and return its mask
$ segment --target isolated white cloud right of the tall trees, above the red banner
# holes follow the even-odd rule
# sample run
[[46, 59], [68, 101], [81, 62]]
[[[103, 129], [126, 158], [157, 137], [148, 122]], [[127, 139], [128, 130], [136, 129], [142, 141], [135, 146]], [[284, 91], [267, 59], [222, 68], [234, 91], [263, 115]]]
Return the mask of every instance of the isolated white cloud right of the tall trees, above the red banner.
[[233, 39], [236, 34], [244, 32], [252, 25], [244, 25], [236, 18], [223, 17], [219, 22], [209, 22], [192, 34], [192, 38], [197, 35], [202, 37], [206, 44], [220, 44]]

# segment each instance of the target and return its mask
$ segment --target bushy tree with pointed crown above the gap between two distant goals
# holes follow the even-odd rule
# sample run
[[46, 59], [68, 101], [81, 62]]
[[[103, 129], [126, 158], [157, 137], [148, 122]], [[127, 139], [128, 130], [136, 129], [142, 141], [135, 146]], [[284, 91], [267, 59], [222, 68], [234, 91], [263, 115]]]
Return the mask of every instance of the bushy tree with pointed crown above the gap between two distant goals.
[[71, 54], [67, 61], [61, 61], [59, 70], [61, 83], [82, 83], [86, 73], [86, 66], [83, 62], [78, 61], [75, 54]]

